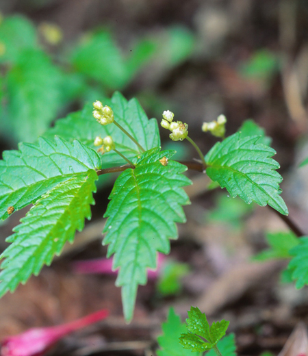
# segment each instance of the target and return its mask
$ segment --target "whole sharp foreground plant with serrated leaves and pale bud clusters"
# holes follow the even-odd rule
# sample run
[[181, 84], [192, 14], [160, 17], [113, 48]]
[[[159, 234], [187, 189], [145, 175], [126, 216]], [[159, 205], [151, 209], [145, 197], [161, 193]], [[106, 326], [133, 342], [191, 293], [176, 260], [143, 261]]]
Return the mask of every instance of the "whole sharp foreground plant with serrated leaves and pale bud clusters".
[[[189, 200], [182, 187], [191, 182], [183, 172], [189, 165], [173, 161], [174, 151], [161, 151], [157, 121], [148, 120], [136, 99], [127, 101], [115, 93], [106, 103], [110, 106], [93, 104], [93, 116], [101, 125], [86, 105], [58, 120], [38, 142], [3, 153], [1, 218], [30, 203], [34, 206], [14, 228], [11, 244], [1, 255], [1, 295], [37, 275], [66, 241], [73, 241], [75, 230], [83, 229], [84, 218], [90, 218], [94, 182], [106, 173], [122, 172], [110, 194], [103, 243], [109, 245], [108, 256], [114, 255], [114, 268], [119, 268], [116, 285], [122, 287], [127, 320], [133, 317], [138, 285], [146, 283], [146, 268], [155, 268], [158, 251], [169, 253], [169, 239], [177, 238], [175, 223], [185, 222], [181, 206]], [[259, 144], [262, 136], [242, 136], [239, 131], [204, 156], [188, 136], [188, 125], [173, 116], [164, 112], [162, 126], [170, 129], [172, 140], [193, 144], [201, 171], [231, 196], [287, 214], [279, 195], [279, 164], [271, 158], [274, 150]], [[218, 121], [209, 130], [224, 136], [224, 125], [225, 120]], [[94, 151], [97, 145], [105, 154]]]

